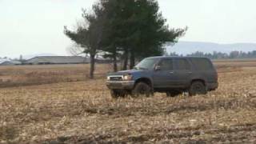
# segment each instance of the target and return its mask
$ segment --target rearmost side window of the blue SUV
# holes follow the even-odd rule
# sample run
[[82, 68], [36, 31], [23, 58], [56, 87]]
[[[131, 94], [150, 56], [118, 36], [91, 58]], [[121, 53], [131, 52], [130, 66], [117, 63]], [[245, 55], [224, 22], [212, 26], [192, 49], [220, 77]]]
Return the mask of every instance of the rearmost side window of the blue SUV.
[[206, 58], [191, 58], [190, 61], [197, 70], [213, 70], [212, 63]]

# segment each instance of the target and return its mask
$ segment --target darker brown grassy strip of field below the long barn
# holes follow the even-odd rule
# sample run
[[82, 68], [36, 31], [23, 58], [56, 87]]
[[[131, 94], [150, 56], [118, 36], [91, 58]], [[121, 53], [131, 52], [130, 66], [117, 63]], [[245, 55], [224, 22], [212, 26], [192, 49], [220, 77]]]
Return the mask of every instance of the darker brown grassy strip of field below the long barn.
[[[104, 78], [111, 65], [98, 65], [96, 78]], [[0, 66], [0, 87], [86, 81], [89, 65]]]

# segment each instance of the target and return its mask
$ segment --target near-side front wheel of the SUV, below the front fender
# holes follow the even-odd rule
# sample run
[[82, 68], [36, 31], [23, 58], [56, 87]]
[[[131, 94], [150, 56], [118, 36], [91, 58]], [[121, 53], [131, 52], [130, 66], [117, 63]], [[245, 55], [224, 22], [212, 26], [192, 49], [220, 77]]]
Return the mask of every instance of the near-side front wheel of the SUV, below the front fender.
[[133, 97], [138, 97], [139, 95], [146, 95], [146, 97], [149, 97], [150, 94], [152, 94], [151, 87], [145, 82], [138, 82], [131, 92]]

